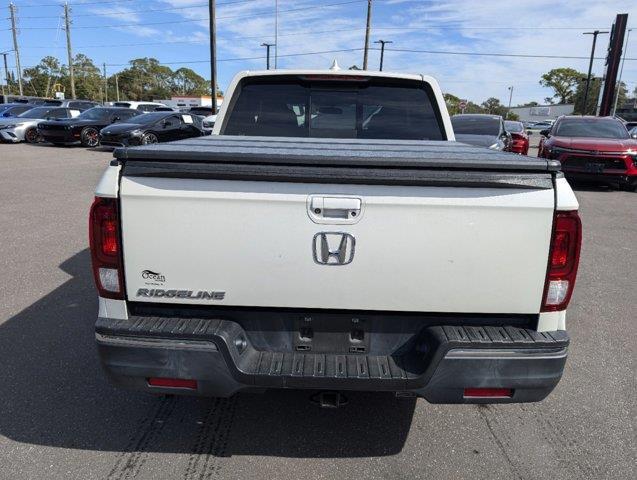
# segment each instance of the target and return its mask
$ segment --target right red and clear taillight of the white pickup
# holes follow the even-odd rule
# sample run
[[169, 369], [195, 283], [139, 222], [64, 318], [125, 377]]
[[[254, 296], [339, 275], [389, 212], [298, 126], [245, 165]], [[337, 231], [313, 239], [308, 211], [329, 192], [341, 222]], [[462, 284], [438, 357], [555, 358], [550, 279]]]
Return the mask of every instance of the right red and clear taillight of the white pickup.
[[575, 287], [582, 244], [582, 222], [576, 211], [557, 212], [544, 285], [543, 312], [564, 310]]

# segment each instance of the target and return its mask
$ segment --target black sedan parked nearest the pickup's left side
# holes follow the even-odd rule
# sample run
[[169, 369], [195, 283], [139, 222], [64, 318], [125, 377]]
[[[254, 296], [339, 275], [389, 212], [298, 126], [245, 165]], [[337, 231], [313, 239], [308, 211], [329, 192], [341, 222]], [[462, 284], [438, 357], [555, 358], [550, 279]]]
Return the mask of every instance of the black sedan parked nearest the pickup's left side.
[[171, 142], [204, 134], [201, 120], [194, 115], [176, 112], [150, 112], [126, 123], [109, 125], [100, 132], [100, 142], [107, 146], [148, 145]]

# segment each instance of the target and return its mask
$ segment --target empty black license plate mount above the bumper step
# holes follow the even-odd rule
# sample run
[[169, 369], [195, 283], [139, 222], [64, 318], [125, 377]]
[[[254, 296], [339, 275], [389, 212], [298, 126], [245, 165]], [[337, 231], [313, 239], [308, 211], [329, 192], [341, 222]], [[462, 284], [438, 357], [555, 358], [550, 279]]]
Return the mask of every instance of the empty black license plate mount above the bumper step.
[[369, 352], [369, 322], [364, 318], [328, 318], [308, 315], [294, 323], [293, 341], [297, 352]]

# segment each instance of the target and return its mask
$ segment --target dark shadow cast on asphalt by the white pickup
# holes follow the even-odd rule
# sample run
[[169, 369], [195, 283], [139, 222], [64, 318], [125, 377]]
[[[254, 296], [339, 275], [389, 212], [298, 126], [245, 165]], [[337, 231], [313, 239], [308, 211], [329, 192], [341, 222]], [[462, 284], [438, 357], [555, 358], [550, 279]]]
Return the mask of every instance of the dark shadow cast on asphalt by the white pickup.
[[66, 260], [66, 283], [0, 325], [0, 435], [132, 453], [361, 457], [402, 450], [413, 399], [351, 393], [348, 405], [322, 410], [302, 391], [202, 399], [110, 386], [94, 346], [89, 262], [88, 250]]

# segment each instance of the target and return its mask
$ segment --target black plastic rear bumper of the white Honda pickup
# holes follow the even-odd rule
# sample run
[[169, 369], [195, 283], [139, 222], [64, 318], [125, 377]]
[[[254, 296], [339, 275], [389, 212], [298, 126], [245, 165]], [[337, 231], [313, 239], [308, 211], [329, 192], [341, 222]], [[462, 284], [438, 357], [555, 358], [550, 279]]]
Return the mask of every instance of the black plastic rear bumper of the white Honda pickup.
[[[263, 388], [397, 391], [432, 403], [542, 400], [562, 376], [569, 343], [564, 331], [430, 326], [389, 355], [265, 351], [233, 321], [157, 317], [100, 318], [96, 339], [108, 377], [125, 388], [221, 397]], [[155, 377], [196, 380], [197, 388], [149, 386]], [[513, 393], [465, 398], [466, 388]]]

